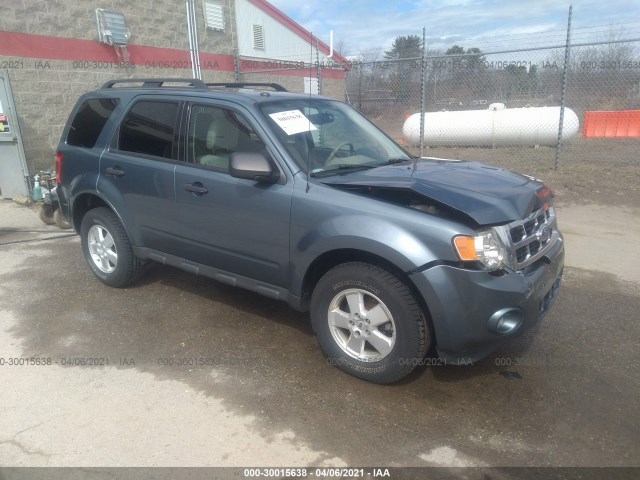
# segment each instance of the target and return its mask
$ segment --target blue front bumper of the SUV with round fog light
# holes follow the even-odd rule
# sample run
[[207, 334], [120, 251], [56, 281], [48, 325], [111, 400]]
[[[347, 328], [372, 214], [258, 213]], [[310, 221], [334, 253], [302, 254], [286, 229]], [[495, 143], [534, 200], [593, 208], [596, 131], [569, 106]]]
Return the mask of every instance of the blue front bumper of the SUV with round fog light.
[[428, 306], [438, 354], [469, 364], [541, 320], [558, 294], [564, 267], [561, 235], [535, 264], [492, 275], [438, 265], [410, 278]]

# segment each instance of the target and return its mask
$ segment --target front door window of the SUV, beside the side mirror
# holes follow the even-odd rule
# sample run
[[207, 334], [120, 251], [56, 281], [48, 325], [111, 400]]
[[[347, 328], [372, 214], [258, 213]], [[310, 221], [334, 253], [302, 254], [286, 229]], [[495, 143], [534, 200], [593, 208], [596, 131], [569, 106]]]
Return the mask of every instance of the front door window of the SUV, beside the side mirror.
[[238, 112], [211, 105], [193, 105], [187, 133], [187, 161], [229, 171], [234, 152], [266, 152], [264, 142]]

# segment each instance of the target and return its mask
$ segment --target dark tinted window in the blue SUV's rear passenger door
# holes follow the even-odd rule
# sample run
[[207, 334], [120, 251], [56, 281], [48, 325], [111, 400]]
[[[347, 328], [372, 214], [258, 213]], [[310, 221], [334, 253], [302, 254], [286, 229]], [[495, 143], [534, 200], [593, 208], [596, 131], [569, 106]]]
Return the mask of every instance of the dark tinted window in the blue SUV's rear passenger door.
[[120, 125], [118, 150], [171, 159], [177, 116], [178, 102], [137, 102]]

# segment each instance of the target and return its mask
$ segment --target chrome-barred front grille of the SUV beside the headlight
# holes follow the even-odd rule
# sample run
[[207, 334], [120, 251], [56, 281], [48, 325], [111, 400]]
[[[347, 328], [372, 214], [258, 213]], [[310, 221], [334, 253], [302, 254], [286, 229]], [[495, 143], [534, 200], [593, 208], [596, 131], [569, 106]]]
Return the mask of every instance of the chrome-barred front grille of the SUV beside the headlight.
[[521, 270], [542, 257], [558, 239], [553, 207], [540, 209], [507, 225], [514, 268]]

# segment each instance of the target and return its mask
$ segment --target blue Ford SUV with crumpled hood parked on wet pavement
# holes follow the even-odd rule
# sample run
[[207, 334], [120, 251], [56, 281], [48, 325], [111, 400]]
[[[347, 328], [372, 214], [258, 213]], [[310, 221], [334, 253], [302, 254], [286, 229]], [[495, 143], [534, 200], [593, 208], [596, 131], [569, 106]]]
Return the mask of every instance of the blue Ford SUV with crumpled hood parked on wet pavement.
[[276, 84], [110, 81], [78, 100], [56, 156], [102, 282], [156, 261], [284, 300], [310, 311], [332, 364], [372, 382], [428, 353], [490, 354], [560, 286], [542, 182], [412, 157], [345, 103]]

